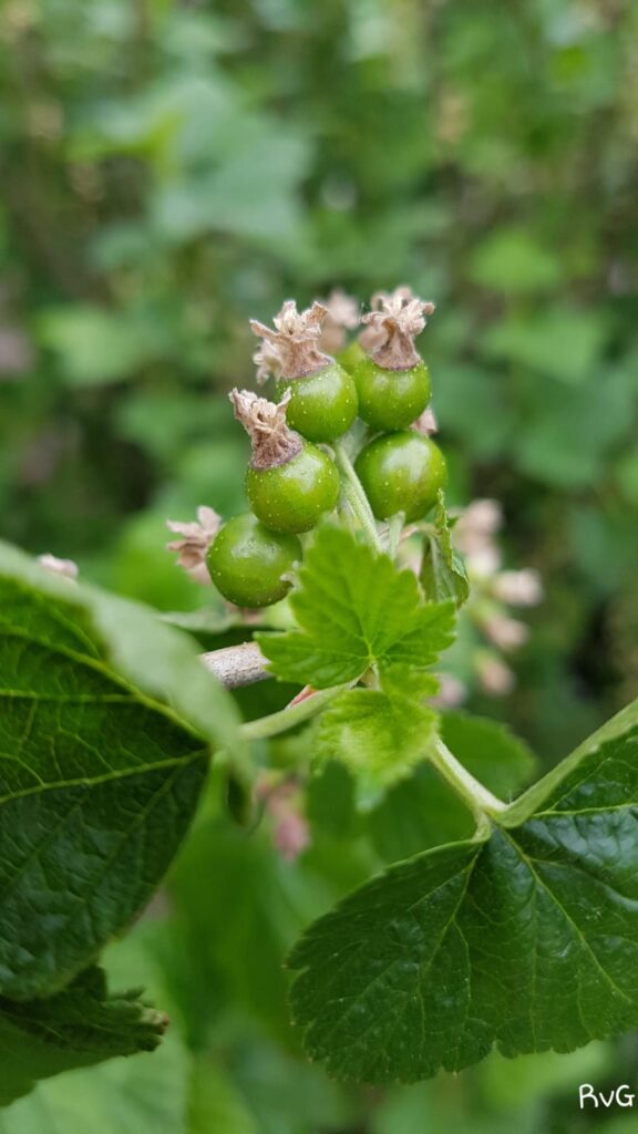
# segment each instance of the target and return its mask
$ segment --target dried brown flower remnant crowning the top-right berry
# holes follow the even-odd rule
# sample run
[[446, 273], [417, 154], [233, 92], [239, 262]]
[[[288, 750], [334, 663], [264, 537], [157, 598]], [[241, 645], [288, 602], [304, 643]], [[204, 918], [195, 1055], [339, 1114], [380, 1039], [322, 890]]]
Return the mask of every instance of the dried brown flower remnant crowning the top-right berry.
[[410, 288], [401, 287], [391, 294], [377, 293], [372, 307], [363, 315], [367, 331], [360, 339], [372, 361], [384, 370], [417, 366], [421, 358], [414, 339], [426, 325], [426, 315], [434, 312], [434, 303], [419, 299]]

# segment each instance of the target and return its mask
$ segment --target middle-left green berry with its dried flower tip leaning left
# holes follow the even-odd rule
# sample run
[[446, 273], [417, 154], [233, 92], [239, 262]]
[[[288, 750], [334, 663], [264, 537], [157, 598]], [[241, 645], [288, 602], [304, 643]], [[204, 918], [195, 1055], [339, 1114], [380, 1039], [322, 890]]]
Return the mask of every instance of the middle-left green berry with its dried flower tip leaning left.
[[336, 465], [286, 424], [279, 405], [249, 390], [233, 390], [235, 416], [252, 441], [246, 494], [258, 519], [272, 532], [309, 532], [339, 497]]

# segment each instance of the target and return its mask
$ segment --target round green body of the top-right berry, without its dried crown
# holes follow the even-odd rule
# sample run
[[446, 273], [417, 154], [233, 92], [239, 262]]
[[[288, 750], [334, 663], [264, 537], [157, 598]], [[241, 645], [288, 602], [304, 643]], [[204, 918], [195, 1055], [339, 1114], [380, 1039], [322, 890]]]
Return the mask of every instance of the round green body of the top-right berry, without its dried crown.
[[430, 375], [425, 363], [409, 370], [385, 370], [371, 358], [354, 371], [359, 416], [372, 429], [406, 429], [430, 400]]

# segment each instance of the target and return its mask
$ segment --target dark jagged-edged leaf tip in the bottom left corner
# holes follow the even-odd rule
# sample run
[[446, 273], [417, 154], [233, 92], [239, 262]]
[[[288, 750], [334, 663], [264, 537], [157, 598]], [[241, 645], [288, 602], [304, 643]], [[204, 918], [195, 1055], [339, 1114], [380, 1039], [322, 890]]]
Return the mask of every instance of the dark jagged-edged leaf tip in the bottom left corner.
[[104, 973], [93, 967], [44, 1000], [0, 997], [0, 1107], [27, 1094], [37, 1080], [152, 1051], [168, 1021], [138, 995], [109, 995]]

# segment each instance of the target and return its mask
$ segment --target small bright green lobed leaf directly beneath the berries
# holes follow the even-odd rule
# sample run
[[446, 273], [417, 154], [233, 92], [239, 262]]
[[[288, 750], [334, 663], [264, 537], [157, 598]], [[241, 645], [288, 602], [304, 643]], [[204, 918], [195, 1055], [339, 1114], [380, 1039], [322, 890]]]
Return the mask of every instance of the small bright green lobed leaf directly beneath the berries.
[[328, 688], [372, 665], [427, 669], [452, 641], [453, 603], [425, 604], [415, 576], [346, 531], [318, 532], [289, 603], [300, 629], [259, 634], [280, 680]]

